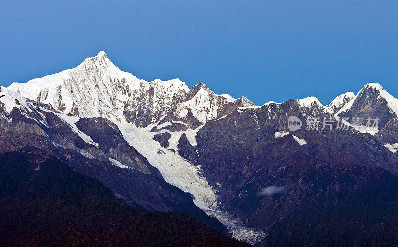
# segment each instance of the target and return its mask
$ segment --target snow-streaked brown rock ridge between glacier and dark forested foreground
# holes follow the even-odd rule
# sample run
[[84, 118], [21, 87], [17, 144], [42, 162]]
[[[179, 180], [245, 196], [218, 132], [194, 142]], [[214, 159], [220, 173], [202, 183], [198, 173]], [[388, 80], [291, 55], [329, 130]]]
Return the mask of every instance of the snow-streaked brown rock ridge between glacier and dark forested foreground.
[[190, 195], [168, 184], [109, 120], [68, 116], [12, 93], [2, 94], [0, 101], [6, 109], [0, 118], [1, 140], [44, 150], [74, 171], [100, 180], [132, 208], [183, 211], [224, 231]]

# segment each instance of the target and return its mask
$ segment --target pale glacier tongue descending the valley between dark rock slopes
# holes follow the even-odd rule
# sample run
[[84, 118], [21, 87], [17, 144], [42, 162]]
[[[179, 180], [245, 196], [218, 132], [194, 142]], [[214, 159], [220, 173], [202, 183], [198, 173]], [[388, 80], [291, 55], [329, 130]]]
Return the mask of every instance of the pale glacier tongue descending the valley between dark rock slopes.
[[228, 228], [232, 237], [255, 244], [267, 236], [264, 230], [246, 227], [235, 215], [220, 211], [217, 191], [201, 174], [200, 165], [194, 166], [177, 152], [171, 151], [171, 149], [177, 151], [178, 140], [182, 133], [186, 133], [191, 144], [196, 145], [195, 135], [202, 126], [195, 130], [170, 132], [172, 137], [169, 140], [169, 148], [164, 148], [153, 140], [153, 136], [161, 132], [150, 132], [150, 127], [137, 128], [127, 122], [119, 123], [118, 127], [124, 139], [161, 172], [166, 182], [192, 194], [195, 205], [209, 216], [218, 219]]

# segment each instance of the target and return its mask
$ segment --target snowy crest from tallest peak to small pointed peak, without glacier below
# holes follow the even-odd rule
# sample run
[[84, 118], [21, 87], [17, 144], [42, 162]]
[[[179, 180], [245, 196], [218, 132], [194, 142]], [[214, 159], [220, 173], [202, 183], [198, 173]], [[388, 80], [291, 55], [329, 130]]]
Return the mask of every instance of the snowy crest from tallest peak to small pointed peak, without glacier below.
[[[215, 94], [201, 82], [189, 90], [178, 78], [152, 82], [138, 79], [117, 68], [103, 51], [76, 68], [13, 83], [8, 90], [68, 115], [117, 122], [126, 119], [138, 127], [154, 125], [167, 115], [187, 124], [191, 117], [200, 125], [236, 101], [229, 95]], [[240, 106], [245, 105], [253, 103], [246, 99]]]

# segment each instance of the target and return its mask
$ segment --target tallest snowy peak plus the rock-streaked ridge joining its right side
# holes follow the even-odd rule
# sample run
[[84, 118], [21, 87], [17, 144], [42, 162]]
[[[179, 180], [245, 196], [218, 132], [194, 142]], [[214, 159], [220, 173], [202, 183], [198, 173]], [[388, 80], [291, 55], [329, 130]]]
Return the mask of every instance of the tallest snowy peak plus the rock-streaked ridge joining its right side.
[[165, 115], [173, 108], [173, 101], [189, 90], [179, 79], [140, 80], [117, 68], [103, 51], [76, 68], [26, 83], [13, 83], [8, 89], [50, 104], [62, 113], [105, 117], [117, 122], [125, 116], [137, 125], [148, 125]]

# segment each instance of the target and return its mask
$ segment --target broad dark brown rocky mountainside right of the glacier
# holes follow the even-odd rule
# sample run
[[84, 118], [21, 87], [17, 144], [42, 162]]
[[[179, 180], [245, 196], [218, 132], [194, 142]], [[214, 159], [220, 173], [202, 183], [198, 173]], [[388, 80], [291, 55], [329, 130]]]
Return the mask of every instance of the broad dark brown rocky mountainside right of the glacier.
[[[199, 130], [199, 165], [210, 182], [221, 185], [224, 209], [248, 226], [267, 229], [269, 246], [394, 243], [398, 178], [373, 168], [396, 172], [395, 154], [377, 136], [307, 131], [305, 120], [292, 134], [306, 144], [292, 134], [275, 137], [288, 131], [288, 116], [306, 119], [305, 113], [290, 100], [242, 109]], [[387, 231], [376, 231], [383, 224]]]

